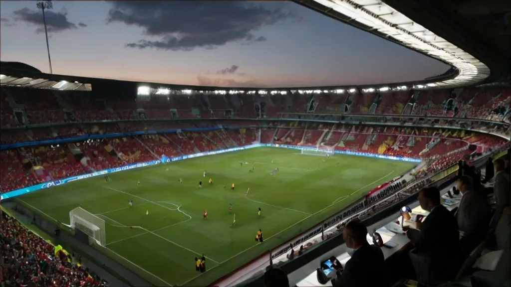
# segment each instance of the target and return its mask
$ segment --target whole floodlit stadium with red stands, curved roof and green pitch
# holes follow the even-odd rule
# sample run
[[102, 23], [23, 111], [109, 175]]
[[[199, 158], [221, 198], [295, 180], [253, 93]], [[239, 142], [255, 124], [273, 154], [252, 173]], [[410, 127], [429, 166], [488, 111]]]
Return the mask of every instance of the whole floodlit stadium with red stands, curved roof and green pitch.
[[438, 21], [451, 4], [419, 1], [296, 3], [451, 68], [407, 83], [225, 88], [2, 62], [2, 237], [29, 229], [40, 258], [72, 262], [61, 285], [262, 286], [275, 265], [293, 286], [319, 286], [319, 261], [349, 258], [347, 222], [393, 241], [400, 208], [419, 206], [423, 187], [455, 186], [459, 161], [480, 179], [490, 157], [508, 168], [511, 49], [482, 36], [487, 18]]

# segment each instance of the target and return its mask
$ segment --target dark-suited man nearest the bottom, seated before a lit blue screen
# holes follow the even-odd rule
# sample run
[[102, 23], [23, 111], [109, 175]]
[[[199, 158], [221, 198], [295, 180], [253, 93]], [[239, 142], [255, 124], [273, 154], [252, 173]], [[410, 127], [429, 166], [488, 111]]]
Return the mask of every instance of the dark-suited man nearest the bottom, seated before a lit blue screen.
[[[352, 253], [341, 276], [332, 279], [335, 287], [388, 286], [385, 272], [385, 258], [377, 246], [367, 242], [367, 228], [358, 220], [346, 224], [342, 238]], [[370, 276], [368, 275], [370, 273]]]

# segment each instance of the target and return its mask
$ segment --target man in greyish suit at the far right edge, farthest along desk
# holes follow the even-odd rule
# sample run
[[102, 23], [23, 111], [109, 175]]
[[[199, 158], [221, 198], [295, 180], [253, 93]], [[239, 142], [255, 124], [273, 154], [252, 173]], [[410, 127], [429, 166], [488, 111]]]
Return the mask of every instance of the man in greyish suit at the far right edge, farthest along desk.
[[509, 175], [504, 172], [504, 160], [498, 158], [493, 161], [495, 168], [495, 182], [493, 184], [493, 195], [495, 197], [495, 214], [491, 227], [497, 226], [504, 208], [509, 207], [511, 184]]

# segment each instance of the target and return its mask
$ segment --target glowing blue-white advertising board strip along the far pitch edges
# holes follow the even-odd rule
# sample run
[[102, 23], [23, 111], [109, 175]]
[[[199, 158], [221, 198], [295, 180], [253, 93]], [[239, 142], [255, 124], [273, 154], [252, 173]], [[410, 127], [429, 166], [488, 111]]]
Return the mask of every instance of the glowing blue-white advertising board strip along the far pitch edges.
[[[315, 150], [315, 148], [311, 148], [311, 147], [300, 147], [300, 146], [292, 146], [292, 145], [273, 145], [272, 143], [255, 143], [253, 145], [248, 145], [248, 146], [244, 146], [244, 147], [216, 150], [216, 151], [212, 151], [212, 152], [202, 152], [202, 153], [183, 155], [183, 156], [177, 156], [177, 157], [172, 157], [172, 158], [169, 158], [167, 156], [162, 156], [161, 159], [158, 159], [158, 160], [129, 164], [129, 165], [121, 166], [119, 168], [108, 169], [108, 170], [103, 170], [103, 171], [94, 172], [94, 173], [90, 173], [90, 174], [78, 175], [78, 176], [73, 176], [73, 177], [69, 177], [66, 179], [54, 180], [54, 181], [40, 183], [40, 184], [36, 184], [36, 185], [32, 185], [32, 186], [27, 186], [27, 187], [13, 190], [12, 192], [8, 192], [3, 195], [0, 195], [0, 200], [14, 198], [14, 197], [17, 197], [20, 195], [35, 192], [36, 190], [45, 189], [45, 188], [49, 188], [52, 186], [58, 186], [58, 185], [62, 185], [62, 184], [68, 183], [68, 182], [80, 180], [80, 179], [86, 179], [86, 178], [95, 177], [95, 176], [101, 176], [101, 175], [106, 175], [106, 174], [111, 174], [111, 173], [116, 173], [116, 172], [121, 172], [121, 171], [127, 171], [127, 170], [131, 170], [131, 169], [136, 169], [136, 168], [144, 168], [145, 166], [150, 166], [150, 165], [155, 165], [155, 164], [160, 164], [160, 163], [168, 163], [168, 162], [178, 161], [178, 160], [183, 160], [183, 159], [201, 157], [201, 156], [206, 156], [206, 155], [215, 155], [215, 154], [221, 154], [221, 153], [227, 153], [227, 152], [235, 152], [235, 151], [241, 151], [241, 150], [246, 150], [246, 149], [251, 149], [251, 148], [259, 148], [259, 147], [277, 147], [277, 148], [287, 148], [287, 149], [296, 149], [296, 150], [301, 150], [301, 149]], [[414, 158], [385, 156], [385, 155], [379, 155], [379, 154], [376, 155], [376, 154], [358, 153], [358, 152], [350, 152], [350, 151], [335, 151], [335, 153], [390, 159], [390, 160], [400, 160], [400, 161], [408, 161], [408, 162], [420, 162], [421, 161], [420, 159], [414, 159]]]

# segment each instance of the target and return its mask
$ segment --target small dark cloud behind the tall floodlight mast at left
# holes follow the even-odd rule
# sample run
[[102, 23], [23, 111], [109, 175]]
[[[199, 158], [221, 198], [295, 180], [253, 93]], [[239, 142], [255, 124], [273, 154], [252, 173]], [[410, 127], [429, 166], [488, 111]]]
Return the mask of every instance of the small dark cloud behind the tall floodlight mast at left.
[[[13, 14], [16, 21], [22, 21], [35, 25], [37, 27], [35, 30], [36, 33], [44, 32], [44, 21], [40, 11], [23, 8], [14, 11]], [[78, 23], [78, 25], [70, 22], [67, 19], [67, 11], [65, 9], [61, 10], [60, 12], [44, 10], [44, 17], [46, 18], [46, 27], [48, 32], [62, 32], [65, 30], [75, 30], [79, 27], [87, 27], [87, 25], [82, 22]]]

